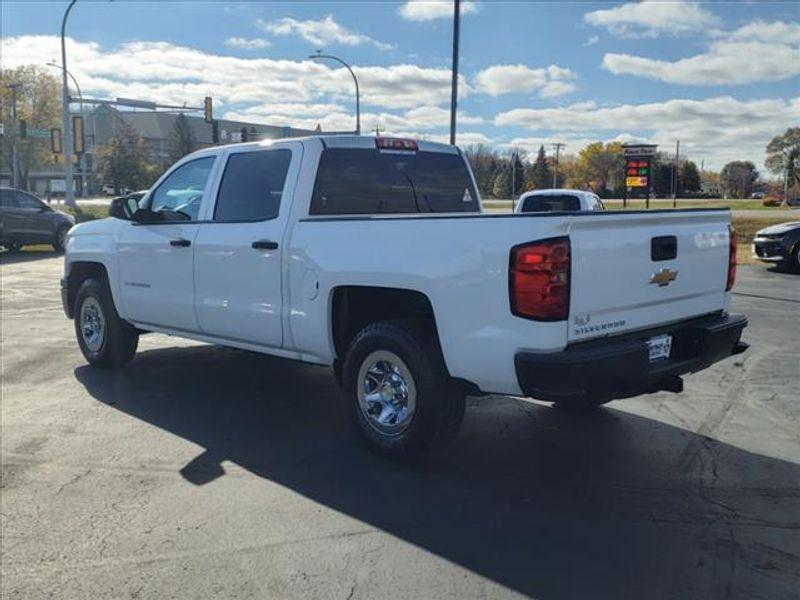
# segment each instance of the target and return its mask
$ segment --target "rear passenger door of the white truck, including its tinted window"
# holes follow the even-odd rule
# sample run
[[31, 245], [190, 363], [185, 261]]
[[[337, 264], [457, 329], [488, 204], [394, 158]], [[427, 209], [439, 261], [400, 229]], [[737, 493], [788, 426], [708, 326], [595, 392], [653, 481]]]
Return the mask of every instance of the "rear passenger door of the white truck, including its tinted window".
[[302, 145], [244, 147], [225, 158], [195, 240], [195, 311], [203, 333], [283, 345], [283, 234]]

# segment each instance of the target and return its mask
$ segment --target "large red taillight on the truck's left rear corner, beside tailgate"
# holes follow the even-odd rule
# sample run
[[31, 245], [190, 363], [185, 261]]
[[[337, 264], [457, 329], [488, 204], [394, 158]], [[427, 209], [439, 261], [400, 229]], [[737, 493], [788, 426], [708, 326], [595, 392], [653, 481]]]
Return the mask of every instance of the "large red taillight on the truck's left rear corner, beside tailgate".
[[511, 312], [536, 321], [563, 321], [569, 314], [569, 238], [511, 249]]

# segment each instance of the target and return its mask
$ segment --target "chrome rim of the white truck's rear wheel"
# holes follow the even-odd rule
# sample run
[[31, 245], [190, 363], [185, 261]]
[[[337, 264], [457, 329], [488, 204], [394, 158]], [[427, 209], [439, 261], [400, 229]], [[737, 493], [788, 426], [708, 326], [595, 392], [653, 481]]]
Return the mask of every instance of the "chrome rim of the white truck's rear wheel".
[[400, 435], [414, 418], [417, 389], [406, 364], [388, 350], [376, 350], [358, 372], [358, 406], [370, 427]]

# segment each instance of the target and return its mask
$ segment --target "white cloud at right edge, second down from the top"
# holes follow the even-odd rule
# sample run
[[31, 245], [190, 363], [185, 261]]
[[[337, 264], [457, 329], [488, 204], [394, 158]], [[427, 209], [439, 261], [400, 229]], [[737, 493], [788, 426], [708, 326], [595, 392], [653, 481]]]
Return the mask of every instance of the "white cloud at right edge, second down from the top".
[[609, 53], [603, 68], [684, 85], [734, 85], [800, 75], [800, 23], [750, 23], [712, 42], [707, 52], [675, 61]]

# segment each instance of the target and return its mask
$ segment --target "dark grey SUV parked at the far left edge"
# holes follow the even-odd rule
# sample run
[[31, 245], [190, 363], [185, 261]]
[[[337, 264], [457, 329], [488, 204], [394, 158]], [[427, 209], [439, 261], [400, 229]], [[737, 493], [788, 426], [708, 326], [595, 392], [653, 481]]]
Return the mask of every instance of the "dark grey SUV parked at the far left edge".
[[0, 187], [0, 245], [6, 250], [50, 244], [61, 251], [73, 225], [72, 215], [54, 210], [33, 194]]

